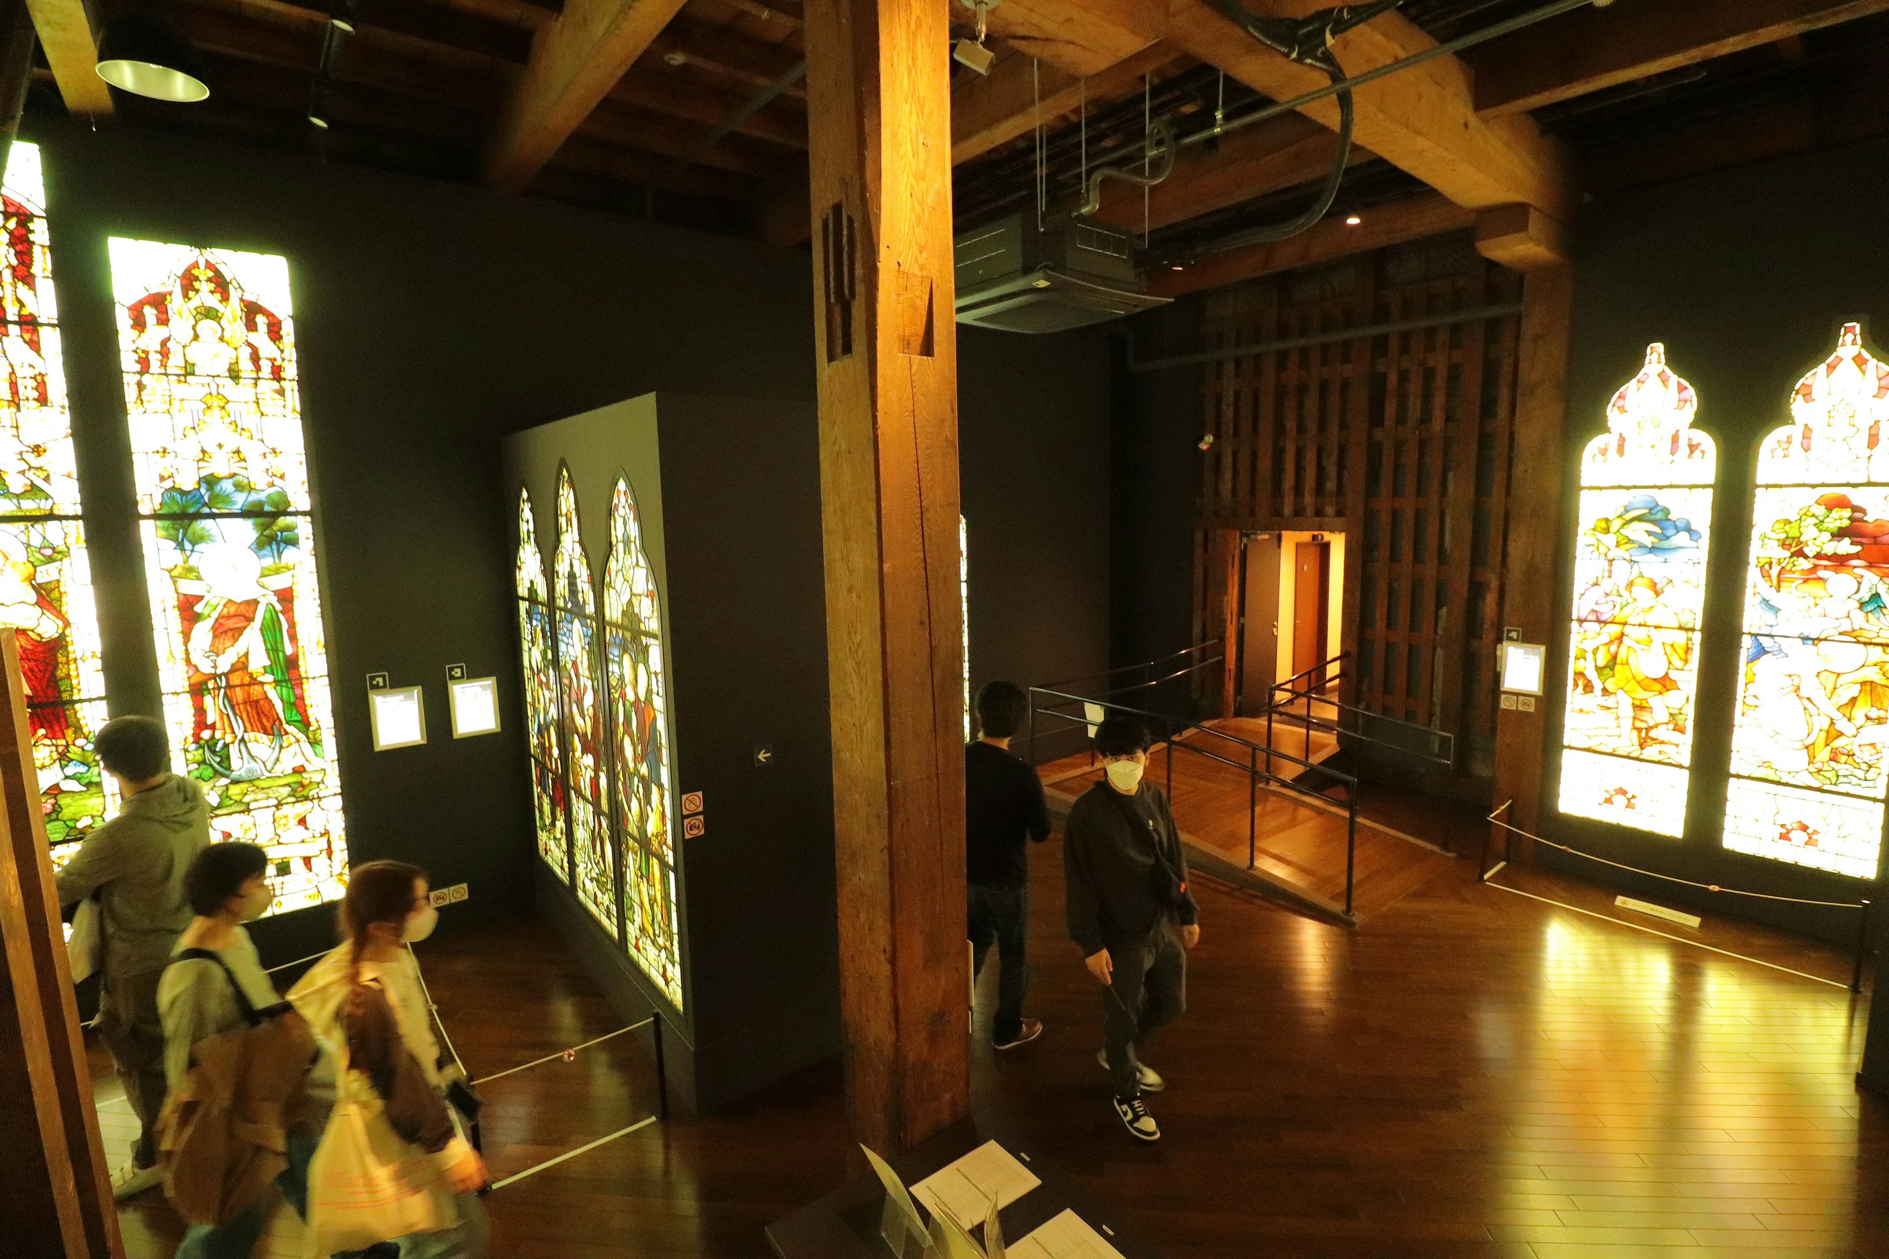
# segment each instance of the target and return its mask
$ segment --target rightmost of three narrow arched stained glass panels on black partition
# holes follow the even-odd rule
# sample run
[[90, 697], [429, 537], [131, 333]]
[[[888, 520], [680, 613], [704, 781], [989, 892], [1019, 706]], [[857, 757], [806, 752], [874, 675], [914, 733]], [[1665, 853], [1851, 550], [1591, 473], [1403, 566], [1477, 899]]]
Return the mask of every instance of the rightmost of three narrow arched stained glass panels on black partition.
[[676, 853], [671, 836], [669, 674], [655, 574], [629, 481], [610, 495], [603, 570], [604, 661], [616, 730], [616, 823], [623, 836], [623, 923], [629, 955], [682, 1006]]

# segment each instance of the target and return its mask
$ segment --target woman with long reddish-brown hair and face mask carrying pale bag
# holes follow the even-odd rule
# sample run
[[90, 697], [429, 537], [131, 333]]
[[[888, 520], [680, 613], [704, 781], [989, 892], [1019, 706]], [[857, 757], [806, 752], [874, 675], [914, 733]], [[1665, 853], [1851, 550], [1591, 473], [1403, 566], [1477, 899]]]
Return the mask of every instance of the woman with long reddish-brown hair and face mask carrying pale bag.
[[[450, 1059], [433, 1036], [431, 1004], [408, 948], [433, 934], [436, 921], [423, 870], [402, 861], [355, 866], [340, 906], [342, 944], [289, 989], [289, 1002], [334, 1063], [336, 1108], [308, 1172], [310, 1253], [359, 1253], [346, 1246], [383, 1251], [389, 1242], [399, 1242], [402, 1259], [485, 1253], [485, 1208], [476, 1197], [487, 1183], [485, 1163], [448, 1106]], [[397, 1151], [378, 1180], [397, 1185], [406, 1216], [423, 1216], [431, 1227], [372, 1234], [372, 1214], [348, 1210], [349, 1193], [334, 1180], [353, 1174], [336, 1144], [344, 1108], [349, 1123], [366, 1127], [366, 1146]]]

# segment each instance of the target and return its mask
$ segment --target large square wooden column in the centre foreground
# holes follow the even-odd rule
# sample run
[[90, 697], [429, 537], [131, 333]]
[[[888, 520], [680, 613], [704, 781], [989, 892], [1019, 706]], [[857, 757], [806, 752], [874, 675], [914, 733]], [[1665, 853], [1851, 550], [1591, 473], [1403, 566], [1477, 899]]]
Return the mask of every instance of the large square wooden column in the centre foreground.
[[890, 1153], [969, 1110], [950, 53], [943, 0], [805, 13], [846, 1104]]

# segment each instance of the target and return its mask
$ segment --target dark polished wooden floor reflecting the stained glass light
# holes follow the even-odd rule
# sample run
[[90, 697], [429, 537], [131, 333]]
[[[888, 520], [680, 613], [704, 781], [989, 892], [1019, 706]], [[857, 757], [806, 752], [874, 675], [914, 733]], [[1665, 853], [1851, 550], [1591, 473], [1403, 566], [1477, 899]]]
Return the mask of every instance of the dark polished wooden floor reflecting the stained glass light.
[[[1147, 1055], [1167, 1076], [1150, 1099], [1164, 1140], [1141, 1146], [1092, 1057], [1101, 1006], [1062, 929], [1058, 849], [1035, 849], [1031, 870], [1030, 1012], [1048, 1031], [1001, 1057], [975, 1042], [973, 1099], [1169, 1259], [1889, 1255], [1889, 1106], [1851, 1082], [1866, 1002], [1477, 885], [1473, 863], [1445, 863], [1356, 929], [1196, 880], [1188, 1016]], [[1568, 880], [1523, 883], [1604, 902]], [[1813, 944], [1708, 934], [1847, 974]], [[474, 1074], [616, 1025], [529, 919], [421, 949]], [[648, 1065], [627, 1040], [610, 1042], [621, 1057], [587, 1049], [489, 1085], [495, 1163], [631, 1114]], [[761, 1225], [829, 1189], [844, 1150], [825, 1065], [493, 1193], [491, 1253], [761, 1259]], [[161, 1195], [123, 1216], [130, 1259], [168, 1257]]]

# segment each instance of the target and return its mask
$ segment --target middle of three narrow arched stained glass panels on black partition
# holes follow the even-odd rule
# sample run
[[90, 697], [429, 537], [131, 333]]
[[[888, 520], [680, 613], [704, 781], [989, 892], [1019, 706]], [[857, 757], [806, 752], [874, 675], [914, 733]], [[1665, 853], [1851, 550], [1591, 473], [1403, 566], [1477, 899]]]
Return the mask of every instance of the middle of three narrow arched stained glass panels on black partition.
[[578, 493], [570, 468], [557, 470], [557, 689], [565, 727], [565, 787], [570, 810], [570, 874], [584, 902], [612, 938], [616, 919], [616, 846], [604, 814], [603, 661], [597, 642], [597, 587], [578, 530]]

